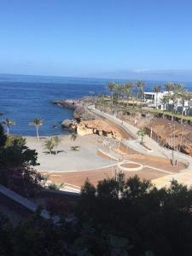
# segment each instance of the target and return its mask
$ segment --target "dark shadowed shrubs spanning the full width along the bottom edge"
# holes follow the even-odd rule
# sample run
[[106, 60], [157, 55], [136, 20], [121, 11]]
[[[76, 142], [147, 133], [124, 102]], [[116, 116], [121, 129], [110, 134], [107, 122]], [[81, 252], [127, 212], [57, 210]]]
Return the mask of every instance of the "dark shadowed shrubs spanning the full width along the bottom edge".
[[[0, 255], [177, 256], [192, 253], [192, 190], [172, 181], [156, 189], [138, 177], [89, 181], [73, 214], [60, 224], [37, 216], [13, 229], [0, 219]], [[55, 205], [51, 202], [50, 206]], [[63, 209], [61, 212], [61, 209]], [[153, 253], [152, 253], [153, 252]]]

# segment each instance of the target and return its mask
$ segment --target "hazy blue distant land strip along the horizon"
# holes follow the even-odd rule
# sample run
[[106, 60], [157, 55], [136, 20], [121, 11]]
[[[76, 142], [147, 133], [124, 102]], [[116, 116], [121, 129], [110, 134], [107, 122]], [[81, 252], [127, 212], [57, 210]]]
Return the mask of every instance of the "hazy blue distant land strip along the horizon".
[[[91, 74], [79, 74], [79, 75], [42, 75], [42, 74], [14, 74], [14, 73], [0, 73], [1, 78], [12, 79], [43, 79], [45, 83], [60, 82], [63, 79], [105, 79], [108, 80], [138, 80], [143, 79], [145, 81], [159, 81], [165, 83], [167, 81], [192, 83], [192, 70], [185, 69], [161, 69], [161, 70], [149, 70], [149, 69], [127, 69], [118, 70], [103, 73], [91, 73]], [[14, 81], [14, 80], [12, 80]], [[24, 81], [25, 82], [25, 81]]]

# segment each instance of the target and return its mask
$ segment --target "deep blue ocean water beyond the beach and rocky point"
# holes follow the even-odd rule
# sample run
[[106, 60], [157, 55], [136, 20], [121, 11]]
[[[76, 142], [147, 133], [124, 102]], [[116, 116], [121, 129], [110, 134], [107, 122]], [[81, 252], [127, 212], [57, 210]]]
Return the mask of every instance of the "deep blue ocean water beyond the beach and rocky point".
[[[114, 80], [114, 79], [112, 79]], [[43, 119], [39, 129], [40, 136], [54, 136], [68, 131], [61, 129], [61, 121], [71, 119], [73, 110], [60, 108], [51, 103], [53, 100], [90, 96], [94, 91], [108, 93], [107, 84], [111, 79], [62, 78], [28, 75], [0, 74], [0, 121], [13, 119], [15, 125], [10, 133], [21, 136], [36, 136], [35, 127], [28, 125], [32, 119]], [[127, 80], [116, 79], [124, 83]], [[145, 90], [151, 90], [154, 84], [165, 82], [145, 81]], [[189, 90], [192, 83], [184, 83]], [[57, 129], [54, 128], [57, 125]]]

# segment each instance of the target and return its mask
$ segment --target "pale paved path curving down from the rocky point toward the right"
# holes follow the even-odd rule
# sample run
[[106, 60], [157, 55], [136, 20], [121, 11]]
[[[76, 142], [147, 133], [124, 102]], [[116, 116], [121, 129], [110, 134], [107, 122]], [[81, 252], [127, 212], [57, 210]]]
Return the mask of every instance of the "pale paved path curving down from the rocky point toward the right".
[[[137, 137], [137, 127], [127, 124], [125, 122], [122, 122], [122, 120], [118, 119], [116, 116], [113, 116], [109, 113], [103, 113], [95, 108], [94, 105], [87, 105], [87, 110], [89, 110], [91, 113], [95, 113], [97, 116], [103, 117], [105, 119], [110, 120], [111, 122], [120, 125], [125, 131], [127, 131], [131, 137], [133, 137], [132, 140], [124, 140], [123, 143], [134, 150], [136, 150], [139, 153], [142, 154], [149, 154], [154, 155], [158, 157], [168, 158], [172, 159], [172, 150], [169, 150], [167, 148], [162, 148], [158, 143], [156, 143], [151, 137], [145, 136], [144, 137], [144, 143], [147, 146], [147, 148], [150, 148], [151, 150], [148, 150], [147, 148], [144, 148], [140, 143], [138, 143], [138, 137]], [[180, 162], [183, 162], [188, 167], [184, 169], [183, 171], [176, 173], [176, 174], [169, 174], [164, 177], [159, 177], [154, 179], [152, 182], [154, 185], [156, 185], [158, 188], [161, 188], [163, 186], [170, 185], [170, 182], [172, 179], [176, 179], [178, 183], [183, 183], [187, 186], [192, 185], [192, 157], [187, 154], [182, 154], [180, 152], [174, 151], [174, 159]]]

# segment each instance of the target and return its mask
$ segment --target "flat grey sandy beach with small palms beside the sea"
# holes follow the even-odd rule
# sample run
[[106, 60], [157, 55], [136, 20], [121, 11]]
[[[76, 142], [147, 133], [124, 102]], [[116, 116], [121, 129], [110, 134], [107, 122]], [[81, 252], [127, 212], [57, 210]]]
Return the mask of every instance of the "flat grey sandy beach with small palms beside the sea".
[[[61, 135], [61, 143], [58, 146], [58, 154], [49, 154], [44, 149], [44, 141], [48, 137], [26, 137], [26, 146], [36, 149], [38, 163], [35, 168], [45, 172], [82, 171], [101, 168], [115, 164], [115, 161], [102, 158], [97, 155], [97, 149], [108, 152], [108, 148], [98, 143], [95, 137], [77, 137], [73, 142], [68, 135]], [[72, 146], [79, 146], [79, 151], [70, 150]]]

